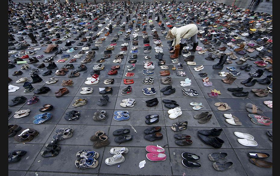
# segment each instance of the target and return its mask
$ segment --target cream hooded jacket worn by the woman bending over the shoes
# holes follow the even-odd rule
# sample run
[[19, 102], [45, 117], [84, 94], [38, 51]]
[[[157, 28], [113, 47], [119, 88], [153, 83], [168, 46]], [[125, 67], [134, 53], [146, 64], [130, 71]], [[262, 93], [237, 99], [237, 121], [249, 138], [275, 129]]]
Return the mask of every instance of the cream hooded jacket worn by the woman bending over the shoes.
[[176, 40], [172, 43], [172, 46], [179, 45], [180, 39], [188, 39], [198, 33], [198, 27], [195, 24], [188, 24], [179, 28], [173, 27], [170, 31]]

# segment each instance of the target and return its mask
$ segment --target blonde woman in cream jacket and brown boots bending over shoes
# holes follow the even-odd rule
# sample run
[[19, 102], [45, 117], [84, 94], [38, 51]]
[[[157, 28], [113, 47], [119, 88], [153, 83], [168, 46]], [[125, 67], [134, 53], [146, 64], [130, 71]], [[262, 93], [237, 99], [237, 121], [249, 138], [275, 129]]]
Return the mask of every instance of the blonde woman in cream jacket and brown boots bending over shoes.
[[195, 24], [188, 24], [179, 28], [173, 27], [172, 29], [170, 29], [168, 31], [168, 34], [166, 35], [166, 38], [174, 39], [172, 46], [175, 46], [175, 54], [170, 55], [170, 58], [178, 58], [179, 54], [182, 54], [182, 50], [185, 46], [185, 41], [190, 37], [192, 37], [194, 43], [193, 48], [189, 51], [196, 51], [195, 49], [198, 46], [197, 33], [198, 27]]

